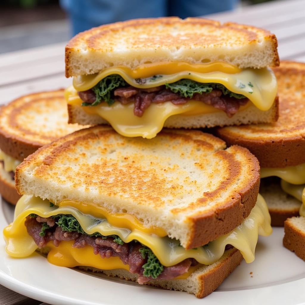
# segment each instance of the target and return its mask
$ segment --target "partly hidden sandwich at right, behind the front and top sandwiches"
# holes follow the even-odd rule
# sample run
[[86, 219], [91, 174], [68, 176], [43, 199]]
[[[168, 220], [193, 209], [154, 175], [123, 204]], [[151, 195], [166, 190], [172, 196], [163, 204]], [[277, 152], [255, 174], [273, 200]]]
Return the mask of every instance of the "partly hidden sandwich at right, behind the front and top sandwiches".
[[283, 226], [288, 217], [299, 215], [305, 187], [305, 64], [286, 61], [273, 70], [280, 98], [278, 121], [218, 128], [216, 133], [227, 144], [247, 147], [257, 157], [264, 178], [260, 192], [271, 224]]

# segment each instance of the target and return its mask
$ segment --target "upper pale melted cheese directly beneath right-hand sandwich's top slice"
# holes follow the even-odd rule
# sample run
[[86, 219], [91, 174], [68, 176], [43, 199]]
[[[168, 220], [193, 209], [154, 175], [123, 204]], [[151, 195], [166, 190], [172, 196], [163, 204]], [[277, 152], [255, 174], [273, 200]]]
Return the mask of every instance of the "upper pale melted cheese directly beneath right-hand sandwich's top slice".
[[260, 178], [276, 176], [291, 184], [305, 184], [305, 163], [296, 166], [261, 168]]

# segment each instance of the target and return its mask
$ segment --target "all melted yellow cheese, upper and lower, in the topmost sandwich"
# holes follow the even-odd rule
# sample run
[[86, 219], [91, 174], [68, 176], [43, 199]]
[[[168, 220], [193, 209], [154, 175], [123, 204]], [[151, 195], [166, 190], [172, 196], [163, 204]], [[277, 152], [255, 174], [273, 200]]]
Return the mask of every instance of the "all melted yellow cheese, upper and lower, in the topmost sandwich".
[[[161, 62], [144, 64], [135, 70], [123, 66], [111, 67], [100, 73], [75, 77], [73, 86], [65, 93], [67, 103], [81, 106], [83, 101], [78, 97], [77, 91], [91, 89], [111, 74], [119, 74], [128, 84], [136, 88], [156, 87], [184, 78], [200, 83], [223, 84], [228, 90], [246, 96], [263, 111], [271, 108], [277, 93], [276, 78], [269, 68], [241, 70], [221, 62], [200, 65]], [[152, 77], [154, 75], [158, 77]], [[139, 82], [138, 79], [142, 81]], [[238, 111], [241, 112], [247, 107], [249, 103], [241, 106]], [[171, 102], [151, 104], [142, 117], [135, 116], [133, 108], [133, 103], [122, 105], [120, 102], [115, 102], [111, 106], [101, 103], [97, 106], [82, 107], [85, 112], [99, 115], [107, 120], [121, 135], [143, 138], [155, 137], [162, 129], [165, 120], [171, 116], [221, 112], [213, 106], [195, 100], [189, 100], [183, 105], [174, 105]]]

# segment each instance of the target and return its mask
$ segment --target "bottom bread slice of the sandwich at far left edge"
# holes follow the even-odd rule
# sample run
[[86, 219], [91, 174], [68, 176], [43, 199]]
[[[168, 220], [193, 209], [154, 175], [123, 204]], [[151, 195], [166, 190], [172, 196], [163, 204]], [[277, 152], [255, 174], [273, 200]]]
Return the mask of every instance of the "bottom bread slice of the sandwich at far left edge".
[[15, 188], [15, 181], [12, 180], [10, 174], [4, 170], [0, 163], [0, 194], [9, 203], [16, 204], [21, 195]]

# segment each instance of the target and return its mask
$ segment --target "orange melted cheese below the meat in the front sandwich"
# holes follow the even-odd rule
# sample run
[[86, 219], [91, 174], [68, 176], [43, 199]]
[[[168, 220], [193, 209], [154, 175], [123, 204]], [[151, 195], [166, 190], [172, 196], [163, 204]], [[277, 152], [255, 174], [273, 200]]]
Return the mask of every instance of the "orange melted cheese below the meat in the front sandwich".
[[[129, 271], [129, 265], [123, 264], [119, 257], [102, 258], [93, 253], [91, 246], [83, 248], [73, 248], [74, 241], [62, 241], [59, 246], [54, 246], [53, 242], [48, 242], [43, 252], [48, 252], [48, 262], [56, 266], [77, 267], [88, 266], [102, 270], [124, 269]], [[175, 279], [187, 278], [196, 271], [201, 264], [190, 267], [188, 272], [177, 276]]]

